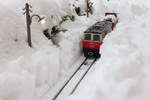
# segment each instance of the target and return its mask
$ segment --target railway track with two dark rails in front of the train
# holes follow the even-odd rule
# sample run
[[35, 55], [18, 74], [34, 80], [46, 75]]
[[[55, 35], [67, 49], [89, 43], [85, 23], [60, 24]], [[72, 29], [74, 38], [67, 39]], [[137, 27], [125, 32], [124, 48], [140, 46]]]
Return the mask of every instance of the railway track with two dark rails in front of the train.
[[[74, 71], [74, 73], [69, 77], [69, 79], [64, 83], [64, 85], [58, 90], [58, 92], [51, 100], [59, 99], [64, 94], [67, 96], [73, 94], [82, 82], [82, 80], [85, 78], [89, 70], [92, 68], [96, 60], [97, 59], [93, 59], [91, 61], [91, 59], [85, 58], [80, 66]], [[85, 65], [87, 61], [90, 61], [88, 62], [90, 64]], [[81, 69], [82, 67], [84, 67], [84, 69]], [[67, 93], [64, 91], [66, 91]]]

